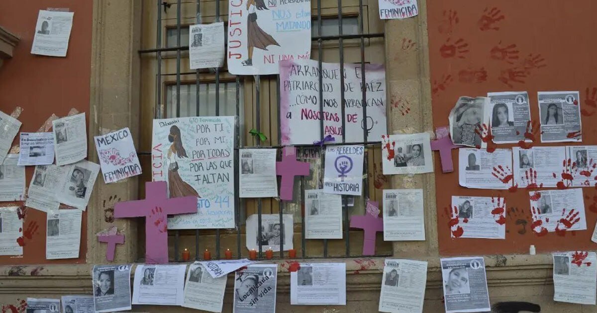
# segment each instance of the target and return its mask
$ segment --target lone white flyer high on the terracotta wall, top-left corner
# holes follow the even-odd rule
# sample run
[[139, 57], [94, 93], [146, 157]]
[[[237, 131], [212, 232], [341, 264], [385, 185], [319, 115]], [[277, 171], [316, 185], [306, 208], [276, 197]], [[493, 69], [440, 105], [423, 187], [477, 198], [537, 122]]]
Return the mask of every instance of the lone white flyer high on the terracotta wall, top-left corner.
[[73, 12], [39, 10], [31, 54], [66, 57], [74, 15]]

